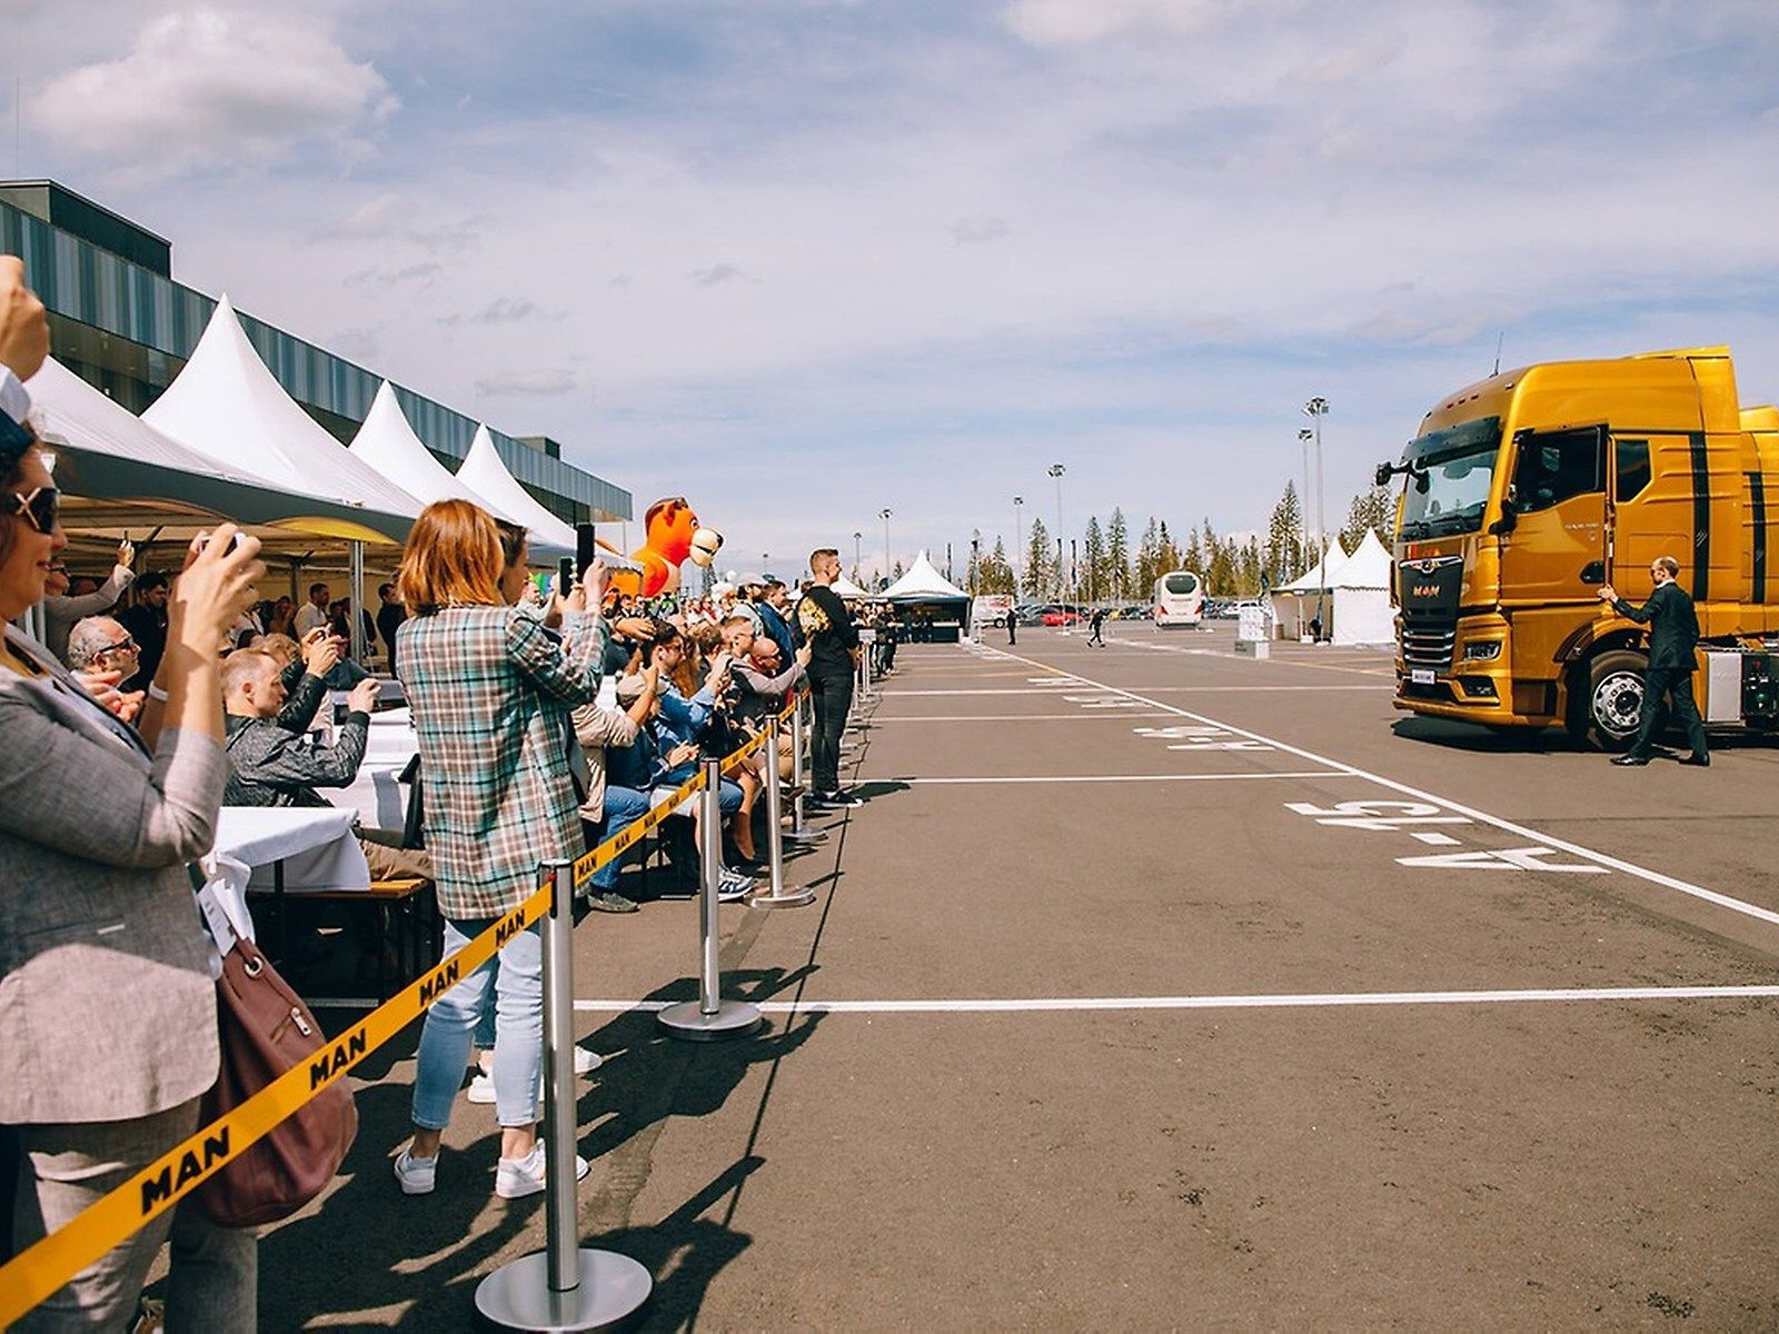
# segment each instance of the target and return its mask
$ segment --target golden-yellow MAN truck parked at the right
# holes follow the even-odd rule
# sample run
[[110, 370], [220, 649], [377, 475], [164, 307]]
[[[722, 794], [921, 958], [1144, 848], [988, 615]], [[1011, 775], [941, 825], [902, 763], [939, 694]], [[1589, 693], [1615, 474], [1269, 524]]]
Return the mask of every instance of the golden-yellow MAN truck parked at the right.
[[1398, 475], [1397, 708], [1626, 745], [1644, 628], [1598, 591], [1640, 603], [1672, 555], [1706, 726], [1779, 727], [1779, 411], [1738, 406], [1729, 349], [1501, 372], [1434, 407]]

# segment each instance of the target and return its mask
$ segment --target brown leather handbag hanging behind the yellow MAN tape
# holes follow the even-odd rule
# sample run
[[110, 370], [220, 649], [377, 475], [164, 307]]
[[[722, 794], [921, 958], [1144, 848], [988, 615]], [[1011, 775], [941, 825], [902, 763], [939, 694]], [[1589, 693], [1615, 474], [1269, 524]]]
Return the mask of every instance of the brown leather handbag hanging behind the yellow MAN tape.
[[[306, 1064], [327, 1042], [310, 1007], [260, 946], [246, 939], [237, 939], [222, 959], [217, 1030], [222, 1069], [205, 1094], [205, 1124], [246, 1103], [292, 1065]], [[278, 1222], [333, 1181], [356, 1137], [352, 1087], [336, 1080], [224, 1163], [196, 1195], [221, 1227]]]

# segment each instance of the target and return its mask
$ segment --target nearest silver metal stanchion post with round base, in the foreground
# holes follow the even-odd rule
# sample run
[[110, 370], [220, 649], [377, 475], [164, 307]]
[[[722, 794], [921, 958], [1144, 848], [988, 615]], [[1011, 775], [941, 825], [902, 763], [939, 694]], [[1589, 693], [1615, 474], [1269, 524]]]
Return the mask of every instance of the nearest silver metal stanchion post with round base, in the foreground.
[[575, 1174], [575, 866], [555, 880], [544, 918], [544, 1249], [477, 1284], [475, 1309], [495, 1329], [589, 1330], [624, 1325], [655, 1288], [630, 1256], [580, 1245]]

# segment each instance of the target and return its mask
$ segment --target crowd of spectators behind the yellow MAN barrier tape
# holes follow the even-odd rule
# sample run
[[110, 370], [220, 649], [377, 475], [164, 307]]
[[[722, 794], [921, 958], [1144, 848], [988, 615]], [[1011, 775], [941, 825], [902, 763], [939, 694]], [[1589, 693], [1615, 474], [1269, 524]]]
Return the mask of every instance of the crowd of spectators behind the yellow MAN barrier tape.
[[[196, 539], [173, 578], [135, 575], [125, 541], [110, 571], [75, 580], [21, 390], [43, 359], [41, 325], [16, 261], [0, 260], [0, 619], [36, 608], [52, 640], [9, 624], [0, 653], [11, 756], [0, 770], [0, 1259], [196, 1128], [217, 1073], [213, 980], [228, 943], [201, 927], [190, 868], [212, 850], [224, 804], [326, 806], [358, 775], [382, 683], [349, 656], [350, 615], [365, 617], [370, 644], [382, 640], [404, 688], [423, 834], [361, 827], [359, 847], [374, 877], [432, 884], [447, 952], [523, 902], [541, 863], [578, 857], [662, 806], [688, 816], [681, 856], [722, 848], [720, 896], [747, 895], [763, 866], [765, 767], [790, 772], [790, 738], [729, 758], [802, 685], [815, 697], [811, 802], [856, 804], [840, 786], [838, 740], [859, 635], [829, 587], [833, 550], [811, 557], [799, 591], [758, 578], [696, 598], [607, 598], [594, 562], [576, 587], [546, 594], [523, 530], [445, 502], [415, 523], [374, 619], [320, 582], [301, 605], [260, 599], [258, 542], [231, 525]], [[329, 692], [345, 692], [338, 717], [324, 710]], [[719, 829], [703, 827], [703, 802], [683, 793], [713, 759], [728, 761]], [[603, 866], [580, 891], [585, 904], [635, 912], [639, 895], [624, 888], [639, 877], [624, 873], [624, 859]], [[84, 944], [94, 932], [103, 950]], [[119, 994], [132, 1003], [119, 1009]], [[427, 1012], [415, 1131], [395, 1160], [402, 1192], [432, 1190], [477, 1046], [491, 1057], [471, 1090], [480, 1085], [477, 1101], [495, 1103], [502, 1128], [495, 1193], [543, 1190], [541, 1007], [534, 928]], [[578, 1069], [591, 1064], [576, 1053]], [[125, 1325], [169, 1236], [167, 1327], [251, 1327], [253, 1233], [215, 1227], [190, 1201], [20, 1327]]]

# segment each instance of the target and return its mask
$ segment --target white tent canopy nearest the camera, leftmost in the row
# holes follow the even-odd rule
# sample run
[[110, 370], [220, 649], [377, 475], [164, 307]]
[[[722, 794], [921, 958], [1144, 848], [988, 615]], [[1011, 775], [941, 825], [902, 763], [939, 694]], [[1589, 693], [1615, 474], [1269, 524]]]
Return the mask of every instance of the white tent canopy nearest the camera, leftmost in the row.
[[167, 541], [185, 541], [228, 518], [304, 535], [377, 537], [347, 505], [269, 487], [185, 448], [53, 358], [28, 390], [32, 420], [57, 455], [57, 486], [71, 496], [64, 510], [71, 528], [137, 537], [160, 528]]

